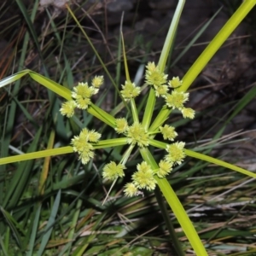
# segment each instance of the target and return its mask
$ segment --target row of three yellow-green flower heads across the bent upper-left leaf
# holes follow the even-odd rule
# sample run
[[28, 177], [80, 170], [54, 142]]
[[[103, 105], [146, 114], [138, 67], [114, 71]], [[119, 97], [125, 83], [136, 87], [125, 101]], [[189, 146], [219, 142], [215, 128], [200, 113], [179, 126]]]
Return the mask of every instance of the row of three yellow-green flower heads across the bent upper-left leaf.
[[99, 91], [99, 87], [103, 84], [103, 76], [96, 76], [91, 81], [91, 86], [88, 83], [79, 83], [73, 87], [73, 100], [64, 102], [61, 105], [61, 114], [71, 118], [75, 108], [86, 109], [90, 105], [90, 97]]

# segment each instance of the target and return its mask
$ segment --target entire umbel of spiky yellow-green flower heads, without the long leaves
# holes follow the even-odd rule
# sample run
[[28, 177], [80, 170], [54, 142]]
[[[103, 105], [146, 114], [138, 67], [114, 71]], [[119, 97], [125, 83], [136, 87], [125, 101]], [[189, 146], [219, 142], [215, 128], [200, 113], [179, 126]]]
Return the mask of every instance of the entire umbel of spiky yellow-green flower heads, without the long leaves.
[[[189, 93], [177, 90], [182, 85], [182, 80], [178, 77], [173, 77], [172, 80], [167, 80], [167, 75], [160, 72], [160, 68], [155, 66], [154, 62], [148, 62], [145, 75], [146, 84], [153, 86], [154, 94], [156, 97], [163, 97], [167, 108], [178, 109], [183, 118], [193, 119], [195, 111], [191, 108], [185, 108], [184, 103], [189, 100]], [[90, 108], [91, 96], [99, 91], [99, 87], [103, 84], [103, 77], [96, 76], [92, 79], [91, 85], [88, 83], [79, 83], [73, 88], [73, 100], [64, 102], [61, 105], [61, 114], [67, 115], [68, 118], [72, 117], [75, 108], [87, 109]], [[121, 95], [125, 102], [138, 96], [141, 92], [140, 87], [131, 81], [125, 81], [122, 85]], [[125, 176], [125, 163], [129, 159], [131, 151], [134, 147], [144, 148], [150, 144], [150, 138], [153, 136], [147, 131], [139, 121], [135, 120], [133, 124], [129, 125], [125, 118], [115, 119], [114, 130], [123, 137], [126, 137], [126, 143], [130, 144], [119, 163], [111, 161], [103, 167], [102, 176], [109, 180], [116, 180], [119, 177]], [[177, 132], [174, 127], [170, 125], [160, 126], [159, 131], [165, 140], [174, 141], [177, 137]], [[155, 132], [154, 132], [155, 134]], [[96, 131], [89, 131], [84, 128], [79, 136], [72, 139], [73, 151], [79, 154], [79, 160], [83, 164], [88, 163], [94, 157], [94, 145], [98, 143], [101, 134]], [[142, 193], [142, 189], [149, 191], [154, 190], [156, 179], [158, 177], [166, 177], [175, 165], [180, 165], [185, 157], [183, 142], [171, 143], [166, 146], [166, 155], [160, 160], [159, 168], [153, 169], [146, 161], [137, 164], [137, 171], [131, 175], [131, 183], [125, 185], [125, 195], [133, 196]]]

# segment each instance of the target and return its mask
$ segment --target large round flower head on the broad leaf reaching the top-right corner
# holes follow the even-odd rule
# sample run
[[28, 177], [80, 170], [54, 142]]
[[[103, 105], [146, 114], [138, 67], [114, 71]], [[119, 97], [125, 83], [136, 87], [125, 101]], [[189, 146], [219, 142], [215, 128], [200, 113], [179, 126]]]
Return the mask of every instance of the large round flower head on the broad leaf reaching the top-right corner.
[[183, 91], [172, 90], [172, 93], [166, 96], [166, 105], [169, 108], [177, 108], [181, 110], [183, 108], [183, 103], [187, 102], [188, 100], [188, 92], [185, 93]]

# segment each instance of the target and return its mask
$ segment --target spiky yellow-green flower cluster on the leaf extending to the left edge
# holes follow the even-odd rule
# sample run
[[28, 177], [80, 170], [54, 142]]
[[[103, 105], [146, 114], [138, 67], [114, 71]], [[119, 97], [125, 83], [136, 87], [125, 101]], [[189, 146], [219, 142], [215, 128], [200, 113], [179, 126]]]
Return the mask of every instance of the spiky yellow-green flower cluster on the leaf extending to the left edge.
[[94, 157], [94, 148], [91, 143], [97, 143], [102, 135], [94, 130], [89, 131], [84, 128], [79, 136], [73, 137], [71, 144], [73, 145], [73, 151], [78, 152], [79, 160], [83, 164], [87, 164], [90, 159]]

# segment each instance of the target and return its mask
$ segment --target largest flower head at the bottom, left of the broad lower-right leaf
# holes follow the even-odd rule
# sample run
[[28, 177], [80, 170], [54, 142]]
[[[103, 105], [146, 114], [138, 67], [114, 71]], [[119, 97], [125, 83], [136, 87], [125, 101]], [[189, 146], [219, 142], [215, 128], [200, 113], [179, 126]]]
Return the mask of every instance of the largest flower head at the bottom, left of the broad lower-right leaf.
[[143, 161], [142, 164], [137, 165], [137, 172], [133, 173], [132, 183], [135, 184], [137, 189], [147, 189], [149, 191], [155, 189], [156, 180], [150, 166]]

